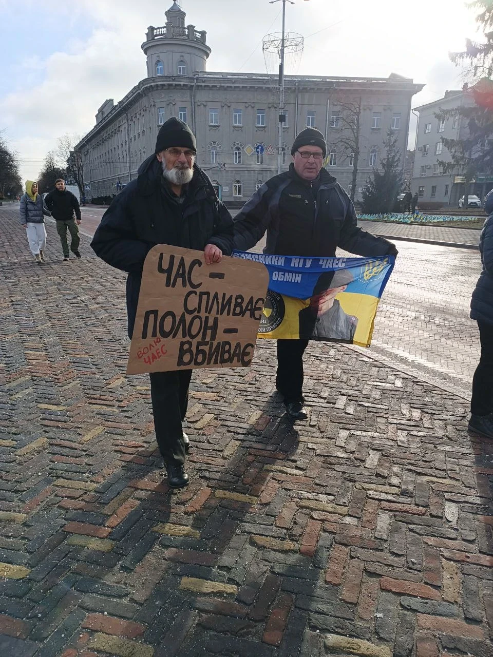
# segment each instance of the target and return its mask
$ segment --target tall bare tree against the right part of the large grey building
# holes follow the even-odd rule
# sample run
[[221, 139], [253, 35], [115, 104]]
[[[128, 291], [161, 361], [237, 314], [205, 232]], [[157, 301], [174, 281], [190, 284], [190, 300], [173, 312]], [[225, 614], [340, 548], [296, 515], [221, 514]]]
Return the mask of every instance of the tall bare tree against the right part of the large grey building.
[[358, 179], [358, 164], [360, 162], [360, 129], [361, 129], [361, 96], [357, 98], [339, 97], [335, 100], [339, 106], [337, 125], [340, 135], [337, 137], [337, 150], [339, 155], [352, 163], [352, 179], [350, 198], [354, 202], [356, 194], [356, 181]]

